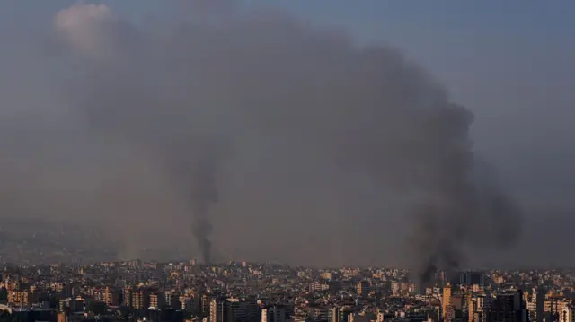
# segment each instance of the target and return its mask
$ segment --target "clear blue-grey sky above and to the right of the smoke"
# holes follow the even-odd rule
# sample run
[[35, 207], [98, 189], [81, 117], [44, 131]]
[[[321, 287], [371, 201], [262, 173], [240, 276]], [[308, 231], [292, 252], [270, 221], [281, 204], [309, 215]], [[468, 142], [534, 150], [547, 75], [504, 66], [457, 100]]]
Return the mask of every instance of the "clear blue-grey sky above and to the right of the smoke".
[[[25, 50], [22, 39], [49, 30], [55, 15], [75, 3], [6, 1], [0, 49]], [[97, 3], [135, 24], [179, 19], [176, 1]], [[473, 111], [474, 152], [497, 168], [501, 185], [529, 210], [527, 231], [567, 233], [562, 226], [571, 225], [575, 209], [575, 3], [244, 0], [241, 5], [276, 6], [313, 25], [347, 30], [360, 44], [402, 50], [443, 83], [452, 100]], [[11, 32], [13, 26], [18, 32]], [[564, 241], [549, 239], [550, 245]]]

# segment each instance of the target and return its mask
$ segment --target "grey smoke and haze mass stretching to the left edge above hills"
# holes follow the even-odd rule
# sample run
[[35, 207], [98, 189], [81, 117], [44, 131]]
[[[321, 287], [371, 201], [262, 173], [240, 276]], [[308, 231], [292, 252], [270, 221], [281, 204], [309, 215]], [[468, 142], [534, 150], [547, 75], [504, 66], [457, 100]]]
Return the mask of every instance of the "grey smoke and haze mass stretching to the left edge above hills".
[[273, 10], [211, 13], [58, 13], [31, 72], [7, 67], [3, 215], [102, 226], [120, 257], [190, 244], [209, 260], [213, 243], [214, 260], [425, 271], [517, 240], [473, 115], [399, 50]]

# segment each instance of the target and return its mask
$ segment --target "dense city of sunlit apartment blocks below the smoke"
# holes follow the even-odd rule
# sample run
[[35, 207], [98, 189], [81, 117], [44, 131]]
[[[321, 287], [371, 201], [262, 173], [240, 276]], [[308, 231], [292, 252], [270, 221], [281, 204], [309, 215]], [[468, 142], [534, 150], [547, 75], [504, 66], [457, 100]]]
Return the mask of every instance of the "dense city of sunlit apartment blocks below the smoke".
[[572, 321], [574, 272], [310, 269], [140, 260], [4, 265], [0, 320], [153, 322]]

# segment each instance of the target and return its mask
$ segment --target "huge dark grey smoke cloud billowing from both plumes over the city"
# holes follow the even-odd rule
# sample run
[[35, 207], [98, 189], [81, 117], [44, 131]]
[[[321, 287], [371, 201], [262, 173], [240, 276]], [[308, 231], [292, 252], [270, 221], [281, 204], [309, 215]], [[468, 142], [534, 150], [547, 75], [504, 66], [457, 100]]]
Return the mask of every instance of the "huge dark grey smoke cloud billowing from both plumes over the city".
[[190, 225], [206, 262], [226, 221], [243, 256], [341, 265], [385, 262], [383, 219], [397, 218], [423, 283], [516, 238], [517, 206], [476, 175], [473, 115], [420, 66], [277, 11], [225, 16], [137, 26], [75, 4], [55, 19], [75, 122], [186, 200], [185, 218], [155, 215]]

